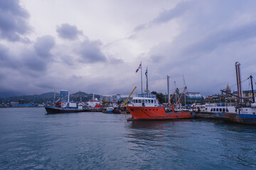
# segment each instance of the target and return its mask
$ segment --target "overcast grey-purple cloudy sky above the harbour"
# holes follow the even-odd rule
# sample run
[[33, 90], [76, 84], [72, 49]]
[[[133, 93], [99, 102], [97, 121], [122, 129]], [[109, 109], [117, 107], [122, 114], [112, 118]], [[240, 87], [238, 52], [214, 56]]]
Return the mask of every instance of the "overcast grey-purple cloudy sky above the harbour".
[[[256, 77], [255, 0], [0, 0], [0, 92], [218, 94]], [[243, 84], [248, 89], [248, 84]], [[236, 90], [236, 86], [232, 86]]]

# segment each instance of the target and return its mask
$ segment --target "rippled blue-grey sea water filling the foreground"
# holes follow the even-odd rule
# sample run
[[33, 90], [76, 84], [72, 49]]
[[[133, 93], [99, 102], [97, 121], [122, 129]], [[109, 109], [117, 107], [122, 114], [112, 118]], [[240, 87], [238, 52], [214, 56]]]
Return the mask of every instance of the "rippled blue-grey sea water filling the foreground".
[[0, 169], [256, 169], [255, 126], [45, 113], [0, 109]]

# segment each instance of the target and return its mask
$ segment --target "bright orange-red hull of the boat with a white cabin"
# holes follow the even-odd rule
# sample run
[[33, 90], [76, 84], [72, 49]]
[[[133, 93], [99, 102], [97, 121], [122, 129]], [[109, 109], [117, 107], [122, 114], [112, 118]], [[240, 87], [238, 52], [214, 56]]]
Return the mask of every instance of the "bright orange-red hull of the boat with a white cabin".
[[191, 112], [168, 112], [164, 107], [134, 107], [127, 106], [127, 109], [132, 115], [130, 120], [174, 120], [192, 118]]

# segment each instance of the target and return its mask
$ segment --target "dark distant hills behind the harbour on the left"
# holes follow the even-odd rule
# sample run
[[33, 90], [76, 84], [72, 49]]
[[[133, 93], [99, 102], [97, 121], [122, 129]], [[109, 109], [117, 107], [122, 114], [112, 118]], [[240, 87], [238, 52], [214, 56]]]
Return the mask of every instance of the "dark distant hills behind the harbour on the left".
[[[75, 94], [70, 94], [70, 101], [88, 101], [92, 99], [93, 94], [87, 94], [82, 91], [78, 91]], [[60, 97], [59, 93], [55, 93], [55, 99], [57, 100]], [[95, 98], [100, 98], [100, 95], [95, 94]], [[0, 103], [6, 103], [11, 101], [24, 100], [24, 103], [45, 103], [52, 102], [54, 99], [54, 92], [48, 92], [45, 94], [34, 94], [27, 96], [0, 96]]]

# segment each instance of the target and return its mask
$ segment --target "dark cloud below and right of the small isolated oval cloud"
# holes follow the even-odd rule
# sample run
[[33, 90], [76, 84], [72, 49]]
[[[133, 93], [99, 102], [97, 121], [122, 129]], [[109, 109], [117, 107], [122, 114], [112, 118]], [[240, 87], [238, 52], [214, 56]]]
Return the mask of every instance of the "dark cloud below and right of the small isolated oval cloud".
[[100, 45], [102, 45], [100, 41], [84, 40], [75, 52], [80, 55], [81, 62], [106, 62], [107, 58], [100, 50]]

